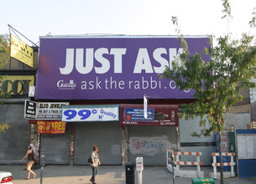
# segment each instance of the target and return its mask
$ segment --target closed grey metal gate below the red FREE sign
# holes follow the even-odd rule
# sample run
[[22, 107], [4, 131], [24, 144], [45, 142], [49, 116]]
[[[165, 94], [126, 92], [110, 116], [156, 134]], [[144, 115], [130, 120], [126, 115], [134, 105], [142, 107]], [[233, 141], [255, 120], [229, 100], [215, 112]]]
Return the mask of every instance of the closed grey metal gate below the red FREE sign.
[[40, 136], [40, 156], [44, 155], [45, 164], [70, 164], [70, 130], [67, 124], [65, 134]]

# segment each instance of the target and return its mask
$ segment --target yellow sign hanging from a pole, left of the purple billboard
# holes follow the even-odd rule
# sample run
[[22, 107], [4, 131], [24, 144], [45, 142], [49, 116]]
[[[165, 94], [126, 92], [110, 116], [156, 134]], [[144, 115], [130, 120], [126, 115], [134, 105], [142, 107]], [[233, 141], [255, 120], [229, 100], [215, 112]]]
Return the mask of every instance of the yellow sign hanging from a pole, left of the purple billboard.
[[11, 57], [34, 68], [34, 50], [11, 34]]

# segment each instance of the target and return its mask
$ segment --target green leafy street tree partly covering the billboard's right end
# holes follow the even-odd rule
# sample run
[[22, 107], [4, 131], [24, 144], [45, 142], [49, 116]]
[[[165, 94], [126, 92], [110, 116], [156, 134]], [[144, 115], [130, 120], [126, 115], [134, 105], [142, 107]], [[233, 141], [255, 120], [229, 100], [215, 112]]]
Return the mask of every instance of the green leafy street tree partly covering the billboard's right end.
[[[227, 13], [223, 18], [231, 17], [228, 1], [222, 0], [222, 2], [223, 13]], [[254, 12], [253, 16], [250, 22], [251, 27], [255, 25]], [[177, 18], [173, 17], [172, 21], [177, 26]], [[173, 79], [180, 90], [195, 90], [195, 101], [181, 105], [183, 111], [180, 113], [180, 118], [188, 120], [200, 116], [200, 125], [205, 125], [207, 119], [210, 127], [204, 128], [200, 133], [194, 132], [193, 135], [206, 136], [212, 131], [218, 132], [218, 143], [221, 145], [220, 131], [225, 128], [225, 113], [235, 102], [243, 100], [242, 89], [256, 86], [252, 81], [256, 76], [256, 47], [253, 43], [255, 43], [253, 36], [247, 34], [235, 40], [231, 35], [225, 35], [217, 38], [217, 46], [205, 48], [199, 54], [190, 54], [185, 39], [181, 35], [180, 44], [184, 53], [172, 62], [172, 69], [165, 69], [164, 76], [167, 79]], [[209, 62], [202, 59], [203, 54], [210, 56]], [[178, 60], [181, 61], [180, 66]], [[221, 183], [223, 183], [221, 146], [219, 152]]]

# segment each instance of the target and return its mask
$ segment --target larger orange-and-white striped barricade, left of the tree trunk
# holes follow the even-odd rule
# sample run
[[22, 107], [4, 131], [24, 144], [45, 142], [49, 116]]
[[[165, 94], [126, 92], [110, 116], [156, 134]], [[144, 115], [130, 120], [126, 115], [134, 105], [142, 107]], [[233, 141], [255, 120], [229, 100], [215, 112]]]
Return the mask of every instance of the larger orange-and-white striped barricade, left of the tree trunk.
[[[171, 158], [169, 156], [171, 154]], [[180, 161], [179, 156], [196, 156], [196, 161]], [[204, 177], [201, 171], [202, 162], [200, 162], [201, 152], [176, 152], [166, 149], [166, 167], [174, 173], [175, 176], [180, 177]], [[171, 164], [169, 164], [171, 161]], [[196, 166], [196, 171], [180, 170], [180, 166]]]

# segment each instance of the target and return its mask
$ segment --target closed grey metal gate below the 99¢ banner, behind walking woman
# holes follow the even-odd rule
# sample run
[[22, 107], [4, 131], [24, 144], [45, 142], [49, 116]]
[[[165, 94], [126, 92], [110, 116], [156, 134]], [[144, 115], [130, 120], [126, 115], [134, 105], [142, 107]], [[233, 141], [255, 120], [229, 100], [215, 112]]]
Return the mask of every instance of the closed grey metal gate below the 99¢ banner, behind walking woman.
[[99, 147], [103, 165], [121, 165], [122, 132], [118, 121], [75, 123], [74, 165], [86, 165], [92, 146]]

